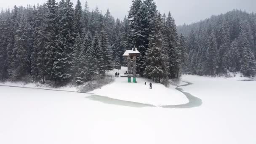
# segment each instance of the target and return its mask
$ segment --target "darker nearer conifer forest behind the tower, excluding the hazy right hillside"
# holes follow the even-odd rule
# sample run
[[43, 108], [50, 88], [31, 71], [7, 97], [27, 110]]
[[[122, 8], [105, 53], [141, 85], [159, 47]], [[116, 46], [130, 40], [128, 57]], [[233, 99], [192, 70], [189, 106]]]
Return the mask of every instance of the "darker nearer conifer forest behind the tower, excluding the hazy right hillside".
[[123, 20], [80, 0], [14, 6], [1, 11], [0, 33], [1, 80], [81, 84], [124, 66], [124, 51], [135, 46], [137, 71], [159, 83], [179, 77], [186, 51], [171, 13], [159, 13], [153, 0], [132, 0]]

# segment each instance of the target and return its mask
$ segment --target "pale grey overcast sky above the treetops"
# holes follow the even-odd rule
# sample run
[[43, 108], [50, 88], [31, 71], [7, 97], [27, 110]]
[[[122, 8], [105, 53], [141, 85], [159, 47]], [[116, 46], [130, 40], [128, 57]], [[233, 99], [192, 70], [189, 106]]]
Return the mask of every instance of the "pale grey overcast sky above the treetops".
[[[42, 4], [47, 0], [0, 0], [0, 8], [12, 8], [14, 5]], [[56, 0], [59, 1], [59, 0]], [[71, 0], [74, 5], [77, 0]], [[82, 5], [85, 0], [80, 0]], [[87, 0], [90, 10], [98, 5], [99, 9], [105, 13], [109, 8], [110, 13], [115, 18], [123, 19], [128, 14], [131, 0]], [[256, 12], [256, 0], [155, 0], [157, 9], [161, 13], [171, 11], [176, 24], [191, 24], [210, 17], [226, 13], [232, 9], [241, 9], [247, 12]]]

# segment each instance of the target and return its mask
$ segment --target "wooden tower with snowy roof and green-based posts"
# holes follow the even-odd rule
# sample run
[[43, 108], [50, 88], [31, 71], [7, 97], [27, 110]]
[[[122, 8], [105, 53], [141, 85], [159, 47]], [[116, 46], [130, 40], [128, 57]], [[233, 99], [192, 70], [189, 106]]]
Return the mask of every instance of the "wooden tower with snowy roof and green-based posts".
[[131, 83], [131, 77], [133, 77], [133, 83], [137, 83], [136, 77], [139, 77], [139, 75], [136, 75], [136, 59], [139, 55], [140, 53], [135, 47], [132, 50], [125, 51], [123, 54], [127, 59], [128, 72], [125, 75], [121, 75], [121, 77], [128, 77], [128, 83]]

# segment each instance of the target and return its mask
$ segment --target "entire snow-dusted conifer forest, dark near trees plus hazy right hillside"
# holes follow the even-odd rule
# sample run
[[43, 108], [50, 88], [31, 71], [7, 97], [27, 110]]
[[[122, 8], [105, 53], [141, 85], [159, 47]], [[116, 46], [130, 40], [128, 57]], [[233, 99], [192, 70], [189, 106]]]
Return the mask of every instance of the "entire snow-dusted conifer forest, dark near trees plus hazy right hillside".
[[157, 83], [256, 69], [256, 15], [239, 10], [176, 27], [154, 0], [132, 0], [123, 20], [80, 0], [48, 0], [2, 10], [0, 34], [0, 80], [82, 84], [125, 66], [134, 46], [137, 72]]

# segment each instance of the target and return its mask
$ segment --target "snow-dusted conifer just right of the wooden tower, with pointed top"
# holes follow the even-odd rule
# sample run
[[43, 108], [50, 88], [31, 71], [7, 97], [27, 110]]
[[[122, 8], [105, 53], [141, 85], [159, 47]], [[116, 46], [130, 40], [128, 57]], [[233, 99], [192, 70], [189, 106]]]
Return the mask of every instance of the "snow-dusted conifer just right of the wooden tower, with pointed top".
[[161, 82], [162, 78], [168, 77], [168, 56], [165, 54], [162, 46], [162, 27], [163, 20], [160, 13], [156, 13], [152, 21], [152, 34], [149, 37], [149, 48], [145, 56], [145, 71], [144, 75], [151, 78], [157, 83]]

